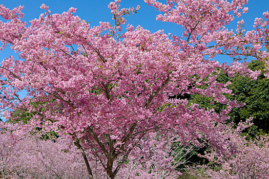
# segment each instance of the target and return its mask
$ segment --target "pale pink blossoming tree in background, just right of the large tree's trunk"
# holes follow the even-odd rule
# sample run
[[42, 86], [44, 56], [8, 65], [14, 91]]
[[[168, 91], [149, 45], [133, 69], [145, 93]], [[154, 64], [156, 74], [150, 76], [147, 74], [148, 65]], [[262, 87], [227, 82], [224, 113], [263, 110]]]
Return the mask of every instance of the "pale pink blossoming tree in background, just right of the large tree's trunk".
[[[168, 134], [167, 134], [168, 135]], [[182, 144], [177, 136], [150, 133], [140, 141], [118, 175], [122, 178], [177, 178], [190, 162], [197, 146]], [[140, 152], [137, 152], [139, 151]]]

